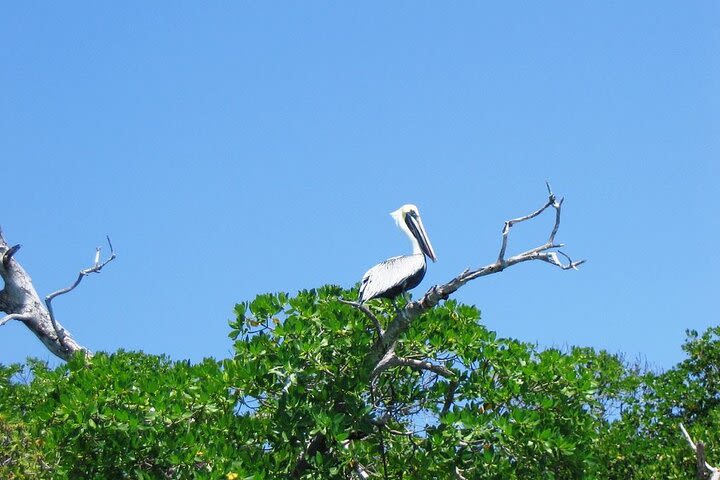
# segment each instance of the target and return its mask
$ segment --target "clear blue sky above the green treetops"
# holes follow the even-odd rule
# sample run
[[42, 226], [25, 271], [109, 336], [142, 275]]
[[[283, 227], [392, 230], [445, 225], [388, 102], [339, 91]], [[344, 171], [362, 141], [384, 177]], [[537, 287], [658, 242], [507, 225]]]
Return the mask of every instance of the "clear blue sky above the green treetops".
[[[566, 197], [579, 272], [524, 264], [458, 298], [499, 335], [667, 368], [717, 325], [720, 4], [12, 2], [0, 16], [0, 225], [93, 350], [230, 353], [257, 293], [352, 286], [409, 251], [421, 293]], [[510, 251], [545, 240], [520, 225]], [[52, 358], [24, 326], [0, 362]], [[54, 362], [54, 360], [53, 360]]]

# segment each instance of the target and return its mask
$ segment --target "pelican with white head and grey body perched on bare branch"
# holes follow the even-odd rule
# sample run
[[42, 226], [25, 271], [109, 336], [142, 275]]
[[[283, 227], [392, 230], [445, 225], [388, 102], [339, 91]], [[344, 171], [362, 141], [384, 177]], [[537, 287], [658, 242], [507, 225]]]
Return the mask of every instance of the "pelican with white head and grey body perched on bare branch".
[[371, 298], [394, 298], [418, 286], [425, 276], [425, 255], [437, 261], [420, 213], [415, 205], [403, 205], [390, 215], [400, 230], [410, 238], [411, 255], [388, 258], [368, 270], [360, 283], [360, 303]]

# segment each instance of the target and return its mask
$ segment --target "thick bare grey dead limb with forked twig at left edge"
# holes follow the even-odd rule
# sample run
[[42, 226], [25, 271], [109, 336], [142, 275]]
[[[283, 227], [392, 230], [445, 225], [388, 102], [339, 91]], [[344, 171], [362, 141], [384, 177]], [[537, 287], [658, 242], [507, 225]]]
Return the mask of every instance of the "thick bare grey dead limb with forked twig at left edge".
[[78, 351], [90, 355], [90, 351], [75, 341], [70, 333], [55, 319], [52, 310], [52, 299], [58, 295], [68, 293], [80, 283], [85, 275], [98, 273], [109, 262], [115, 259], [115, 252], [110, 245], [110, 258], [100, 263], [99, 249], [96, 250], [94, 265], [80, 271], [78, 279], [70, 287], [51, 293], [40, 300], [30, 275], [13, 256], [20, 245], [10, 247], [0, 231], [0, 277], [4, 286], [0, 290], [0, 311], [6, 313], [0, 318], [0, 326], [11, 320], [23, 322], [54, 355], [68, 360]]

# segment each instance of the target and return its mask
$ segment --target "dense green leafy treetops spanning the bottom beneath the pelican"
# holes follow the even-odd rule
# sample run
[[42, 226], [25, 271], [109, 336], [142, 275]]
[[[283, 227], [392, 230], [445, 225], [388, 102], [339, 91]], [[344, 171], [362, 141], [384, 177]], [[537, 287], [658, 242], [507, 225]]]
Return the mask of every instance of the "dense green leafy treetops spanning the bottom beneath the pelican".
[[338, 300], [354, 296], [237, 305], [232, 358], [0, 367], [0, 478], [692, 479], [681, 421], [720, 458], [720, 328], [688, 332], [687, 359], [657, 373], [500, 338], [448, 301], [396, 346], [445, 369], [370, 381], [372, 322]]

